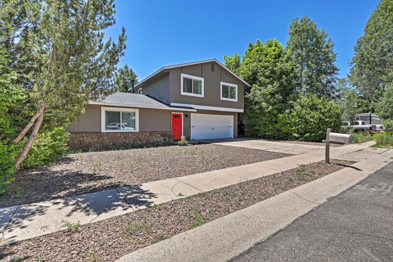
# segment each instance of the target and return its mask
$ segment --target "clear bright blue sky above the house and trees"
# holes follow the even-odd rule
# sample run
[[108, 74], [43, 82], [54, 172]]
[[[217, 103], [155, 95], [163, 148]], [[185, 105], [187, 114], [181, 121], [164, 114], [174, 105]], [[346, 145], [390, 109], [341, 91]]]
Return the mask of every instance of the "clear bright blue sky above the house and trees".
[[284, 46], [296, 17], [309, 15], [336, 43], [339, 77], [378, 0], [134, 1], [115, 0], [116, 25], [106, 36], [128, 36], [126, 63], [141, 80], [162, 66], [243, 55], [248, 43], [276, 38]]

